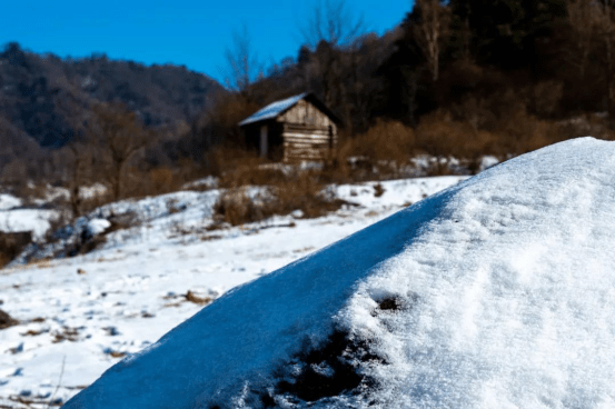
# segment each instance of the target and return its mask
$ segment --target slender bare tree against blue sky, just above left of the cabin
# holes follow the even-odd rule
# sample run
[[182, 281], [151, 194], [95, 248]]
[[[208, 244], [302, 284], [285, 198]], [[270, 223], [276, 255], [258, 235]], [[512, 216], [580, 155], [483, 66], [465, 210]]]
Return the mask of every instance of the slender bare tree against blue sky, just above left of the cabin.
[[244, 23], [240, 31], [232, 32], [232, 44], [225, 51], [226, 64], [221, 69], [226, 86], [245, 97], [249, 97], [251, 83], [262, 76], [262, 64]]

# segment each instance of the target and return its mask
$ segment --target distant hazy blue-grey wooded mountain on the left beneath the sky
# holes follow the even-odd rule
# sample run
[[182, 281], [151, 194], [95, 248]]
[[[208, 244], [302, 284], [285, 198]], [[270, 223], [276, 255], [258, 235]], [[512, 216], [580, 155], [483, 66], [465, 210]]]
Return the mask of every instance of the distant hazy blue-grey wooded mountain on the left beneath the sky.
[[[71, 138], [69, 101], [83, 110], [92, 100], [120, 101], [147, 126], [178, 126], [208, 109], [217, 92], [224, 92], [218, 82], [186, 67], [148, 67], [103, 54], [60, 59], [17, 43], [0, 53], [0, 119], [41, 147], [58, 148]], [[16, 138], [14, 131], [4, 133]]]

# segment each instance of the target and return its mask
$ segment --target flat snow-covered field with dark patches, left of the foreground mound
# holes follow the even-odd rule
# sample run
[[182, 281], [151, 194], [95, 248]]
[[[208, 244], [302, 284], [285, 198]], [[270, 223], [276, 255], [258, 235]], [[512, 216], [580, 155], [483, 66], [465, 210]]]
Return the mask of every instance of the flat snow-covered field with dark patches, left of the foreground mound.
[[[217, 190], [107, 206], [101, 219], [131, 211], [141, 225], [110, 233], [105, 248], [86, 256], [0, 270], [0, 309], [21, 322], [0, 330], [0, 408], [63, 402], [209, 299], [463, 179], [386, 181], [384, 191], [374, 188], [377, 183], [340, 186], [338, 197], [359, 207], [319, 219], [276, 217], [212, 231], [204, 227]], [[26, 225], [22, 210], [8, 210], [19, 203], [2, 200], [14, 205], [0, 217], [11, 226]], [[40, 217], [32, 220], [44, 230]]]

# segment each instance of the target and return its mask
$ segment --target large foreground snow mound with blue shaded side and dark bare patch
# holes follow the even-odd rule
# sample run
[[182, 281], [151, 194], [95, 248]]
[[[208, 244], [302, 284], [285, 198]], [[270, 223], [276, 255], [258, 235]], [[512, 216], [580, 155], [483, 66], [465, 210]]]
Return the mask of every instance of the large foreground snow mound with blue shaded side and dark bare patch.
[[612, 408], [614, 237], [615, 143], [558, 143], [227, 292], [65, 408]]

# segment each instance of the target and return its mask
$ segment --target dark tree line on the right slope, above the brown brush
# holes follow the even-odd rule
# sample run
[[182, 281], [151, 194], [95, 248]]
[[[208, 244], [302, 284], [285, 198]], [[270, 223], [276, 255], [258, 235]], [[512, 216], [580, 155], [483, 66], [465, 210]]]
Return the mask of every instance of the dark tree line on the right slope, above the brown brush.
[[386, 34], [350, 23], [350, 34], [340, 41], [343, 36], [323, 27], [347, 21], [337, 8], [344, 2], [327, 2], [329, 8], [309, 20], [297, 57], [274, 66], [242, 92], [256, 109], [315, 91], [350, 134], [364, 132], [377, 118], [416, 126], [434, 110], [508, 90], [523, 90], [518, 99], [540, 118], [597, 111], [615, 117], [613, 3], [417, 0]]

